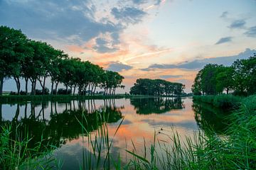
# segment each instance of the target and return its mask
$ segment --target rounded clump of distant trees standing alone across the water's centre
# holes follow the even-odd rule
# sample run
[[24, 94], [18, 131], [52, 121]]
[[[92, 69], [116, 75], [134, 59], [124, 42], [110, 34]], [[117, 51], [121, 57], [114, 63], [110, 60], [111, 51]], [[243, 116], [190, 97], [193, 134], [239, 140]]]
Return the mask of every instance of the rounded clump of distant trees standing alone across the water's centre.
[[130, 94], [154, 96], [180, 96], [185, 85], [163, 79], [137, 79]]

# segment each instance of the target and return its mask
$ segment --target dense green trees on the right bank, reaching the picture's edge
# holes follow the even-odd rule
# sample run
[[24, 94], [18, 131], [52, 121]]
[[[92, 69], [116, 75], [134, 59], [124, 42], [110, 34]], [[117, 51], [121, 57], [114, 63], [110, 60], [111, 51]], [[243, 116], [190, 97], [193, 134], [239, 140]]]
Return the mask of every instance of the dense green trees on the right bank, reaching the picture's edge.
[[196, 75], [192, 86], [195, 95], [230, 92], [239, 96], [256, 94], [256, 54], [247, 60], [236, 60], [230, 67], [207, 64]]

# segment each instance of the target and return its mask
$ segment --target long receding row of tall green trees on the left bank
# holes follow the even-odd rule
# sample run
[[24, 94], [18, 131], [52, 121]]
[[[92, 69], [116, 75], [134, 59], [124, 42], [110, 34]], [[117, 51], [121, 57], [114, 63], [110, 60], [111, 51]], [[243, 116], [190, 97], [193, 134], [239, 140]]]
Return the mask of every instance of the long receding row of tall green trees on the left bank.
[[62, 50], [55, 50], [46, 42], [29, 40], [21, 30], [0, 26], [0, 95], [4, 79], [16, 81], [17, 94], [21, 92], [21, 79], [24, 79], [28, 94], [28, 81], [31, 81], [31, 94], [36, 94], [36, 83], [41, 94], [46, 93], [46, 78], [50, 77], [50, 94], [57, 94], [58, 84], [65, 85], [65, 91], [78, 88], [78, 94], [95, 94], [96, 87], [104, 89], [104, 94], [115, 94], [121, 85], [122, 77], [117, 72], [106, 71], [91, 62], [82, 62], [69, 57]]

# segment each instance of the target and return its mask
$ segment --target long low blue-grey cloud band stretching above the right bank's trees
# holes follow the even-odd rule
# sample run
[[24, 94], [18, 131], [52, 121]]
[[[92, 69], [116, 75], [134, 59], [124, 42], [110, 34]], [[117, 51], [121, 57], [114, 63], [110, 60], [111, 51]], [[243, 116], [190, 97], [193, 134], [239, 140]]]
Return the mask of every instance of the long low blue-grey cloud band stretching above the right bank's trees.
[[223, 64], [231, 65], [235, 60], [246, 59], [252, 54], [256, 53], [256, 50], [246, 49], [244, 52], [240, 52], [238, 55], [228, 56], [228, 57], [213, 57], [206, 58], [202, 60], [193, 60], [191, 62], [182, 62], [180, 64], [152, 64], [142, 71], [151, 71], [152, 69], [202, 69], [206, 64]]

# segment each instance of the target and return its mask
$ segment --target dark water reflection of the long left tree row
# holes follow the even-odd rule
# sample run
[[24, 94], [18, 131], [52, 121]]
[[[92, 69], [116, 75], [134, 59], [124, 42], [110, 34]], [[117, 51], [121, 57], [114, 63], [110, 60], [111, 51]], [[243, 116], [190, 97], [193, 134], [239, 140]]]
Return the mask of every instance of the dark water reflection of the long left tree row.
[[[75, 105], [75, 102], [78, 102], [78, 105]], [[58, 113], [58, 107], [63, 105], [64, 111]], [[24, 106], [22, 115], [21, 106]], [[92, 132], [97, 130], [102, 123], [115, 123], [122, 117], [121, 108], [114, 105], [113, 99], [105, 100], [104, 105], [98, 108], [96, 108], [94, 100], [65, 103], [31, 102], [17, 103], [14, 118], [12, 120], [1, 118], [0, 125], [11, 125], [10, 140], [15, 140], [17, 135], [21, 140], [25, 137], [31, 139], [28, 142], [29, 148], [36, 147], [38, 142], [42, 142], [44, 146], [60, 147], [61, 144], [80, 137], [82, 120], [86, 119], [82, 125], [87, 132]], [[46, 149], [46, 147], [41, 149]]]

